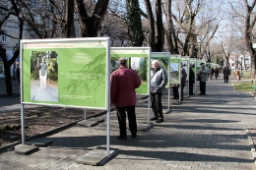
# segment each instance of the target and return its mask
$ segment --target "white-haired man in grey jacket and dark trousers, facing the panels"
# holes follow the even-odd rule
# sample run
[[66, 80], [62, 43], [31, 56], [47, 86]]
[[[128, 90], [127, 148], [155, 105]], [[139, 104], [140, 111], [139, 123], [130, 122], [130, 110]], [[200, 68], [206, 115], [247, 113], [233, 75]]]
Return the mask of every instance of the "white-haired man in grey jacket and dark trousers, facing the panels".
[[166, 71], [160, 68], [159, 60], [152, 61], [153, 68], [151, 69], [151, 101], [152, 109], [155, 117], [151, 120], [156, 120], [156, 123], [163, 122], [161, 95], [162, 89], [167, 84]]

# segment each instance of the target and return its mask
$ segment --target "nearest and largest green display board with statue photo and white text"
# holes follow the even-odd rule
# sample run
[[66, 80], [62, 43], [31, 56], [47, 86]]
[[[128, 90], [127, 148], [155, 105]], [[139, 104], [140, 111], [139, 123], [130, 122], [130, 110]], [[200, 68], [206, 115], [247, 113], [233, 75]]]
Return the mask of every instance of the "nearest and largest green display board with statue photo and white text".
[[21, 41], [22, 103], [106, 109], [108, 38]]

